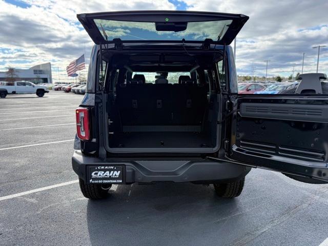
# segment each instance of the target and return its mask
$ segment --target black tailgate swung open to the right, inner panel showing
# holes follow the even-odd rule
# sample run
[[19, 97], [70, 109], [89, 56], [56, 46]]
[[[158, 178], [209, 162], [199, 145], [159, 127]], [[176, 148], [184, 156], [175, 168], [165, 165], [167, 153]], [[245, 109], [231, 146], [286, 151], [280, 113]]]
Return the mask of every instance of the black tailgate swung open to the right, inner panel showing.
[[328, 182], [327, 97], [239, 96], [235, 107], [231, 160]]

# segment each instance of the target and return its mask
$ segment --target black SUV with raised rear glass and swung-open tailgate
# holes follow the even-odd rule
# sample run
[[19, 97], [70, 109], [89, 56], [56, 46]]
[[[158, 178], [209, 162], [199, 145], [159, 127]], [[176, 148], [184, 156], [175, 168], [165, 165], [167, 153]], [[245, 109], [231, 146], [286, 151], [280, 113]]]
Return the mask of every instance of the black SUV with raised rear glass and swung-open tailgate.
[[112, 184], [213, 184], [236, 197], [251, 168], [328, 181], [328, 98], [237, 95], [229, 46], [248, 16], [78, 14], [95, 43], [72, 165], [87, 198]]

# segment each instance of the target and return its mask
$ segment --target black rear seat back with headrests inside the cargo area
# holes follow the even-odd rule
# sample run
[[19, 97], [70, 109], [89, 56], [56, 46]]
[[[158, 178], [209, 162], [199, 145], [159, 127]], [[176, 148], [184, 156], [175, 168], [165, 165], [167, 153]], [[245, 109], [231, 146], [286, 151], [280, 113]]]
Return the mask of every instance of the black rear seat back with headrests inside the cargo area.
[[117, 85], [123, 126], [201, 125], [207, 105], [206, 87], [189, 76], [180, 76], [179, 84], [153, 85], [145, 84], [145, 76], [136, 75], [127, 84]]

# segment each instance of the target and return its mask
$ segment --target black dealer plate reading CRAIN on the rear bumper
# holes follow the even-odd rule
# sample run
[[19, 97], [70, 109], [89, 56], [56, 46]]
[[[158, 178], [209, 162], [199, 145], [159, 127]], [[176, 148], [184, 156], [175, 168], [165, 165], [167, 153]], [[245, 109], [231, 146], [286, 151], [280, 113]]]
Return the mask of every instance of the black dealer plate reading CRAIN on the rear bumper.
[[97, 165], [87, 167], [87, 183], [124, 183], [125, 167]]

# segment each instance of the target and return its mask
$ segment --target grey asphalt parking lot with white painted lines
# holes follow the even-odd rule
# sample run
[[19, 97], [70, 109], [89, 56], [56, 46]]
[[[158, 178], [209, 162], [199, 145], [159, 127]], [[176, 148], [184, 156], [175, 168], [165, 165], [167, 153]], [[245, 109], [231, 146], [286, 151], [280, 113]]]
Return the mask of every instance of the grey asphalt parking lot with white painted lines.
[[0, 100], [1, 245], [328, 243], [328, 185], [266, 170], [253, 169], [235, 199], [191, 183], [116, 185], [106, 200], [84, 198], [71, 168], [82, 98], [50, 91]]

